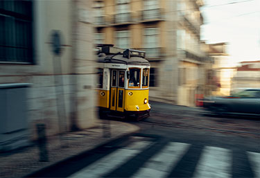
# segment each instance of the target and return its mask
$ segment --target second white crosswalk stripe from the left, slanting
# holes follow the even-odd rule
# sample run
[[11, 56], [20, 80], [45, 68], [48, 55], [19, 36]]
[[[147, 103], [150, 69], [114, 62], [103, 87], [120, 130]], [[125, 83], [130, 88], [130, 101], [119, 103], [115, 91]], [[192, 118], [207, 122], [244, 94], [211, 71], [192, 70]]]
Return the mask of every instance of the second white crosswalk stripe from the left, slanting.
[[132, 177], [165, 177], [173, 165], [179, 161], [189, 148], [188, 143], [171, 142], [159, 153], [150, 158], [143, 168]]

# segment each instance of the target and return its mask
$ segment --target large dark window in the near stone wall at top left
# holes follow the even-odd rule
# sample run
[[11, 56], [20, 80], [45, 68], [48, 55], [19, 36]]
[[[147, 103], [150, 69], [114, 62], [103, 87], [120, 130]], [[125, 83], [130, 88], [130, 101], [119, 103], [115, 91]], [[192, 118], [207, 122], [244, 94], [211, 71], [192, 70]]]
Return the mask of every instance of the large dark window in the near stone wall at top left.
[[32, 1], [0, 1], [0, 62], [33, 62]]

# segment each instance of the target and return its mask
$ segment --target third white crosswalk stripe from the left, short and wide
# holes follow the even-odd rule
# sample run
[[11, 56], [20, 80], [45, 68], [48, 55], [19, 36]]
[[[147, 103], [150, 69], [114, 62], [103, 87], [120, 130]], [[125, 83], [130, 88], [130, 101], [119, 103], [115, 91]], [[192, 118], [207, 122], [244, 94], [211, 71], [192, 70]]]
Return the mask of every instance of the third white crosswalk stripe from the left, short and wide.
[[194, 172], [196, 178], [200, 177], [232, 177], [232, 153], [225, 148], [206, 146]]

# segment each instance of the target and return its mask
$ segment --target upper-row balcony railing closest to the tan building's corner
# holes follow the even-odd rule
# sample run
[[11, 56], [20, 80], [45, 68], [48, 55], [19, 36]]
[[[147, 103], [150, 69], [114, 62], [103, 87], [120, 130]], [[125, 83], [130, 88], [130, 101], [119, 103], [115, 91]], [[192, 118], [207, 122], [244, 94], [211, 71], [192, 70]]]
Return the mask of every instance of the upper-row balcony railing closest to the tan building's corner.
[[141, 21], [163, 20], [164, 12], [162, 8], [141, 11]]

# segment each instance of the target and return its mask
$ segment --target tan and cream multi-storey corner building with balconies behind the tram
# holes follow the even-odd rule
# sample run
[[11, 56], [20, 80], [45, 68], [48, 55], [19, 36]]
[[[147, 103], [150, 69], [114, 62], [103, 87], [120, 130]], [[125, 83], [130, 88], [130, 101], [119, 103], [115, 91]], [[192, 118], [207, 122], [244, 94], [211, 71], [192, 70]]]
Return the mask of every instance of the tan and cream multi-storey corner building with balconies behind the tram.
[[146, 51], [150, 98], [193, 106], [203, 93], [200, 0], [96, 0], [95, 43]]

